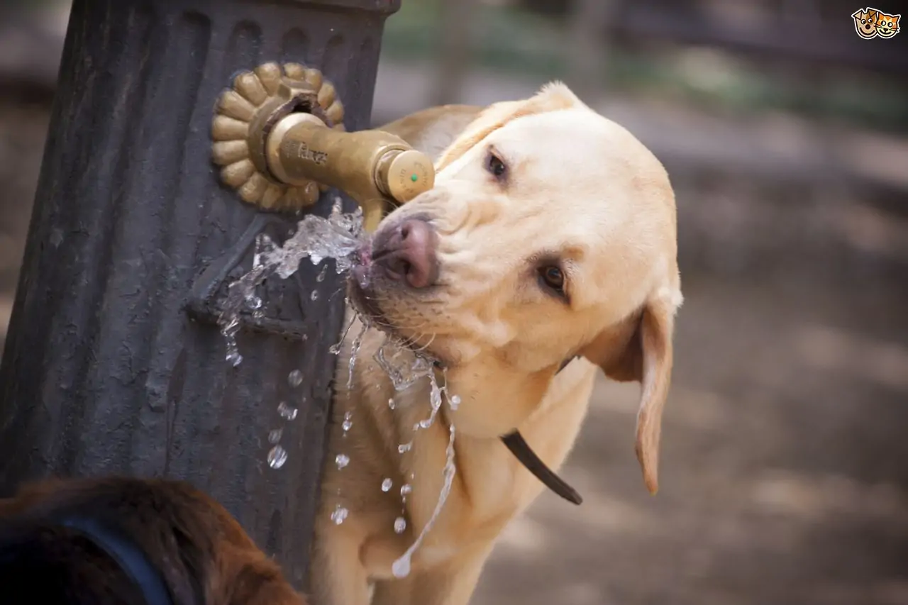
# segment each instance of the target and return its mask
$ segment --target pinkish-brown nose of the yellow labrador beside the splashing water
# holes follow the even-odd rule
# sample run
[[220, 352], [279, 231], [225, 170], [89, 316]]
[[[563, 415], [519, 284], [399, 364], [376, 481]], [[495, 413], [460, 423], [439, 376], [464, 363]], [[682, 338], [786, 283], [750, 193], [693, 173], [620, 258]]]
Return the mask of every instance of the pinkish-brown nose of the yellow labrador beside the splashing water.
[[376, 243], [372, 259], [390, 279], [406, 280], [413, 288], [429, 287], [438, 279], [436, 234], [426, 221], [408, 219]]

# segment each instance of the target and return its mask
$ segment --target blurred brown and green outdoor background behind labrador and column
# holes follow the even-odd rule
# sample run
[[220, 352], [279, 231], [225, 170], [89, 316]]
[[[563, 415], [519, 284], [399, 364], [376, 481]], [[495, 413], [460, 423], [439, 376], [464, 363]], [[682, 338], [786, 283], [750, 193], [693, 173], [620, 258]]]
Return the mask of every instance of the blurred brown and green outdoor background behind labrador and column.
[[[908, 604], [908, 34], [863, 40], [839, 0], [402, 5], [375, 125], [561, 79], [676, 187], [661, 491], [637, 388], [602, 381], [563, 472], [586, 502], [544, 494], [473, 602]], [[0, 343], [67, 13], [0, 5]]]

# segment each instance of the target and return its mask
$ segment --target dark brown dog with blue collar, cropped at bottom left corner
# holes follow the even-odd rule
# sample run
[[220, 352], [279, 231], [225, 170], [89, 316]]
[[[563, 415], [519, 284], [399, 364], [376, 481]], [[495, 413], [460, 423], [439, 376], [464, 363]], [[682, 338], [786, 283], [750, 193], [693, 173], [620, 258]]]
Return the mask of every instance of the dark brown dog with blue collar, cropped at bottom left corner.
[[163, 480], [45, 481], [0, 500], [0, 586], [4, 603], [306, 603], [220, 504]]

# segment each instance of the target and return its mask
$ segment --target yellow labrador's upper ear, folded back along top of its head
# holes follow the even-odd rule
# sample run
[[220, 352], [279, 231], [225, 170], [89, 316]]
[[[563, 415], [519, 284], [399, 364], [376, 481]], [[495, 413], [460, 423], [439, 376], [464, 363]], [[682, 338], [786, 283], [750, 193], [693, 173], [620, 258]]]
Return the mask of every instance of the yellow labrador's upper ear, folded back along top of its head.
[[523, 101], [503, 101], [490, 104], [479, 116], [473, 120], [440, 156], [435, 163], [435, 170], [439, 172], [446, 166], [466, 154], [469, 149], [479, 144], [489, 134], [498, 130], [508, 122], [519, 117], [534, 114], [545, 114], [561, 109], [573, 107], [586, 107], [577, 95], [572, 93], [567, 85], [552, 82], [543, 86], [537, 94]]

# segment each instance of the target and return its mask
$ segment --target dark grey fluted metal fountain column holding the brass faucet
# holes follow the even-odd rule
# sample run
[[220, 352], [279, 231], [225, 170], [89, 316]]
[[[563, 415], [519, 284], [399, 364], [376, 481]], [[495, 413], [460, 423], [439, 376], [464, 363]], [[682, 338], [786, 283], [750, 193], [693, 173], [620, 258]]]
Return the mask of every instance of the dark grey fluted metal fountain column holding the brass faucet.
[[[232, 247], [256, 212], [219, 183], [212, 111], [233, 74], [294, 61], [337, 86], [349, 131], [368, 127], [382, 25], [399, 6], [75, 0], [0, 368], [0, 495], [51, 474], [187, 479], [303, 587], [342, 284], [333, 271], [319, 282], [311, 263], [270, 283], [271, 327], [241, 332], [235, 368], [218, 327], [187, 312], [206, 268], [237, 276], [251, 263]], [[280, 402], [299, 414], [275, 470]]]

